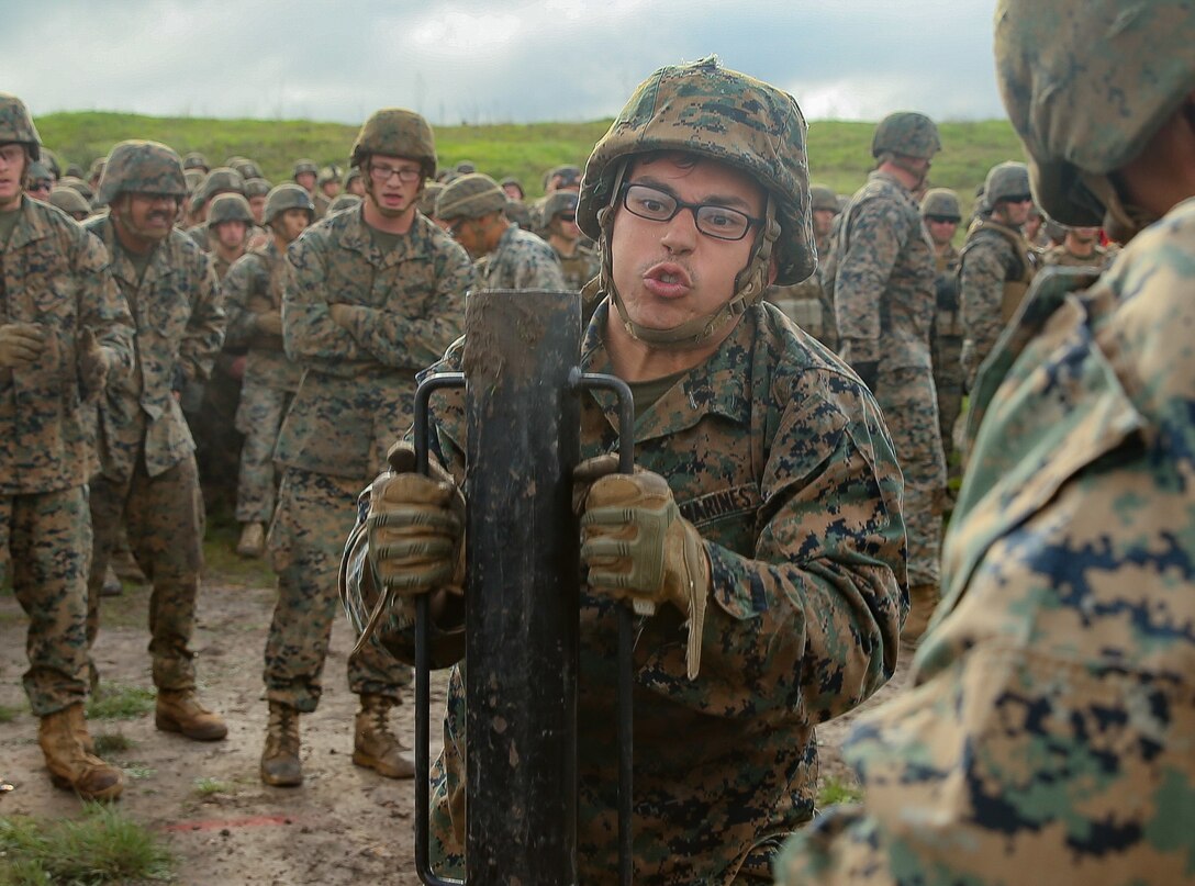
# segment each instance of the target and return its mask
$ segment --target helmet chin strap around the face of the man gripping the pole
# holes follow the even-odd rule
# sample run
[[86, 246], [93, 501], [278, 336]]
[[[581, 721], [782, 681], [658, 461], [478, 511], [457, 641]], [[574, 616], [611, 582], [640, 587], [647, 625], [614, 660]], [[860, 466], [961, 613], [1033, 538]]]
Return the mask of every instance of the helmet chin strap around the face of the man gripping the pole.
[[623, 190], [623, 174], [626, 164], [621, 164], [618, 174], [614, 177], [614, 191], [611, 203], [598, 210], [598, 224], [601, 227], [602, 246], [601, 271], [599, 273], [600, 293], [608, 293], [618, 309], [618, 315], [623, 321], [626, 333], [639, 342], [645, 342], [655, 347], [664, 350], [686, 351], [691, 350], [709, 339], [723, 326], [736, 319], [747, 308], [758, 302], [767, 289], [768, 269], [772, 263], [772, 248], [780, 236], [780, 224], [776, 220], [776, 205], [772, 196], [767, 196], [764, 209], [764, 226], [755, 238], [755, 246], [752, 250], [747, 266], [735, 277], [735, 294], [731, 299], [712, 314], [695, 316], [686, 320], [679, 326], [668, 330], [654, 330], [641, 326], [631, 319], [623, 302], [623, 296], [614, 285], [613, 259], [611, 257], [611, 234], [614, 229], [614, 204], [618, 195]]

